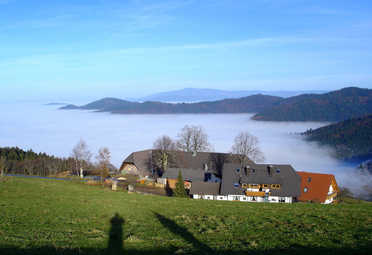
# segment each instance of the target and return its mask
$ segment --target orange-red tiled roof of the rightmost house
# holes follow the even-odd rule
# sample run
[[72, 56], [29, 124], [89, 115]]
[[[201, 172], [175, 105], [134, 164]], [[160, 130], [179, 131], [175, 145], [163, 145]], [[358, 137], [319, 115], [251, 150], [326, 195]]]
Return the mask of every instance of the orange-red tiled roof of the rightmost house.
[[[299, 201], [307, 202], [310, 200], [325, 203], [331, 185], [334, 185], [334, 190], [339, 191], [333, 174], [297, 173], [301, 176], [301, 197], [298, 198]], [[308, 178], [311, 178], [311, 180], [308, 181]], [[304, 188], [307, 188], [306, 192], [304, 192]]]

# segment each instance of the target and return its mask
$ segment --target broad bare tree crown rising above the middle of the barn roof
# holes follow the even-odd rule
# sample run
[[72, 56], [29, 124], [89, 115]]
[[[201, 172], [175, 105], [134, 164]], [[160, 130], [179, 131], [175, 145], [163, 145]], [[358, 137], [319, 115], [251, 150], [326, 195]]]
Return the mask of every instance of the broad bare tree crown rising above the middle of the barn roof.
[[202, 126], [186, 125], [177, 134], [176, 144], [181, 151], [203, 151], [211, 150], [211, 143], [208, 142], [209, 135]]

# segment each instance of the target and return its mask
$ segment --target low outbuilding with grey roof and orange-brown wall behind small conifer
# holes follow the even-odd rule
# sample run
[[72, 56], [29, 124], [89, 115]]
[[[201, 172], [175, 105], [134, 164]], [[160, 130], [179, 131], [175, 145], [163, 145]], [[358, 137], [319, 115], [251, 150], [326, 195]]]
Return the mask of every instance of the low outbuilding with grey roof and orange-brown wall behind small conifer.
[[[161, 178], [158, 178], [158, 183], [163, 183], [166, 187], [175, 188], [179, 171], [182, 173], [182, 178], [185, 180], [185, 188], [190, 188], [195, 182], [221, 182], [221, 176], [213, 171], [193, 170], [182, 168], [168, 168]], [[163, 179], [160, 181], [159, 179]]]

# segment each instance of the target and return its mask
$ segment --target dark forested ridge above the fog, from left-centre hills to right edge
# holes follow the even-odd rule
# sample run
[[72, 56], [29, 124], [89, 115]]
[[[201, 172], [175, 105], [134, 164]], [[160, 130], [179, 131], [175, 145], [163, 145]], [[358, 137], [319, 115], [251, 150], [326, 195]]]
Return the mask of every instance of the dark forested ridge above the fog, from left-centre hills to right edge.
[[338, 122], [372, 113], [372, 90], [349, 87], [325, 94], [301, 94], [288, 98], [257, 94], [196, 103], [138, 103], [108, 97], [84, 106], [67, 105], [59, 109], [89, 109], [121, 114], [259, 112], [251, 118], [265, 121]]

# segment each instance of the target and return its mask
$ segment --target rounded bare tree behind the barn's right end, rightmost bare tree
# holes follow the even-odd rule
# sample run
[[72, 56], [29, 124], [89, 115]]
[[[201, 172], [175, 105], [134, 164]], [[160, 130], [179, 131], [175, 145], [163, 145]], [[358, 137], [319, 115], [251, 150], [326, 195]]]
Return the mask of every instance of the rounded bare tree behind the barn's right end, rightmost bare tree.
[[257, 136], [247, 131], [241, 132], [235, 136], [231, 151], [238, 156], [240, 164], [248, 163], [250, 160], [262, 162], [265, 160], [265, 157], [259, 147], [259, 143], [260, 141]]

